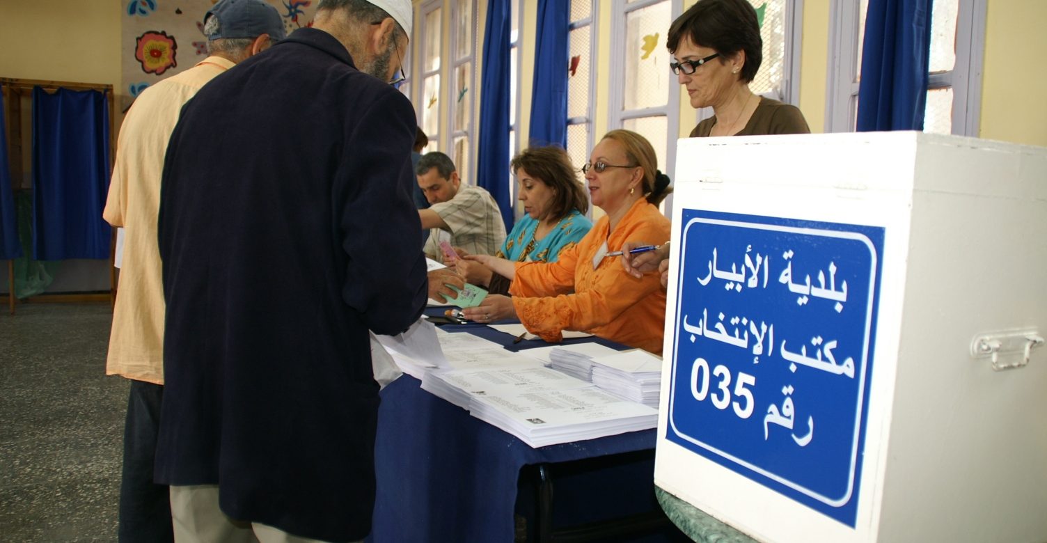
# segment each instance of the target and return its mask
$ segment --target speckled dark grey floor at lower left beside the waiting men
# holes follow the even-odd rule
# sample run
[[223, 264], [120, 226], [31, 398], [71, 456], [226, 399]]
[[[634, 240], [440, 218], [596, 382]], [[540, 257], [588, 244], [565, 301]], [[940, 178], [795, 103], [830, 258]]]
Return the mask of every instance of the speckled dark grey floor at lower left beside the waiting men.
[[128, 383], [108, 303], [0, 313], [0, 542], [116, 541]]

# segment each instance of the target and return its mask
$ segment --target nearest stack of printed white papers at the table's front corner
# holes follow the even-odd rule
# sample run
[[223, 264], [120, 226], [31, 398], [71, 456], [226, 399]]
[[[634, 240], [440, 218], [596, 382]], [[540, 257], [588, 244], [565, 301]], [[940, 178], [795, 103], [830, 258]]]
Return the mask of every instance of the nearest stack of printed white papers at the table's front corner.
[[658, 410], [595, 386], [473, 395], [473, 416], [531, 447], [595, 439], [658, 425]]

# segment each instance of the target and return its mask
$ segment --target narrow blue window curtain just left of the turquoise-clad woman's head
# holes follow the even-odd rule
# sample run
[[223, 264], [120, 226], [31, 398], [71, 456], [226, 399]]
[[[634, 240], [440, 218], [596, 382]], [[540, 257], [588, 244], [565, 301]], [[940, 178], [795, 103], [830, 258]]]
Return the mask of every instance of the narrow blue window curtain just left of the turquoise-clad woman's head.
[[484, 71], [481, 74], [477, 184], [494, 197], [506, 231], [513, 227], [509, 190], [509, 0], [487, 4]]

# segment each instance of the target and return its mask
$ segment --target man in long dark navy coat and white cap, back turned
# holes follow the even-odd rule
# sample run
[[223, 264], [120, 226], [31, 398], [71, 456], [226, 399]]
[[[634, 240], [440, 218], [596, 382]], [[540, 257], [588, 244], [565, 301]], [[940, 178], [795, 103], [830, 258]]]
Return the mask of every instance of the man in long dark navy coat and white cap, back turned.
[[417, 121], [388, 85], [410, 15], [409, 0], [322, 0], [312, 28], [182, 110], [160, 197], [155, 472], [172, 485], [176, 538], [371, 530], [379, 399], [367, 331], [408, 327], [427, 287]]

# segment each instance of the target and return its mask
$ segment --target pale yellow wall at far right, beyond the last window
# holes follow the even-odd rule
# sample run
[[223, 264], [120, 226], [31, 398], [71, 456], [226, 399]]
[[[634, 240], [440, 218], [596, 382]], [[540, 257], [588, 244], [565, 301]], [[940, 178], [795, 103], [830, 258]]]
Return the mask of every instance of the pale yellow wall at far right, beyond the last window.
[[1047, 2], [987, 3], [980, 136], [1047, 146]]

